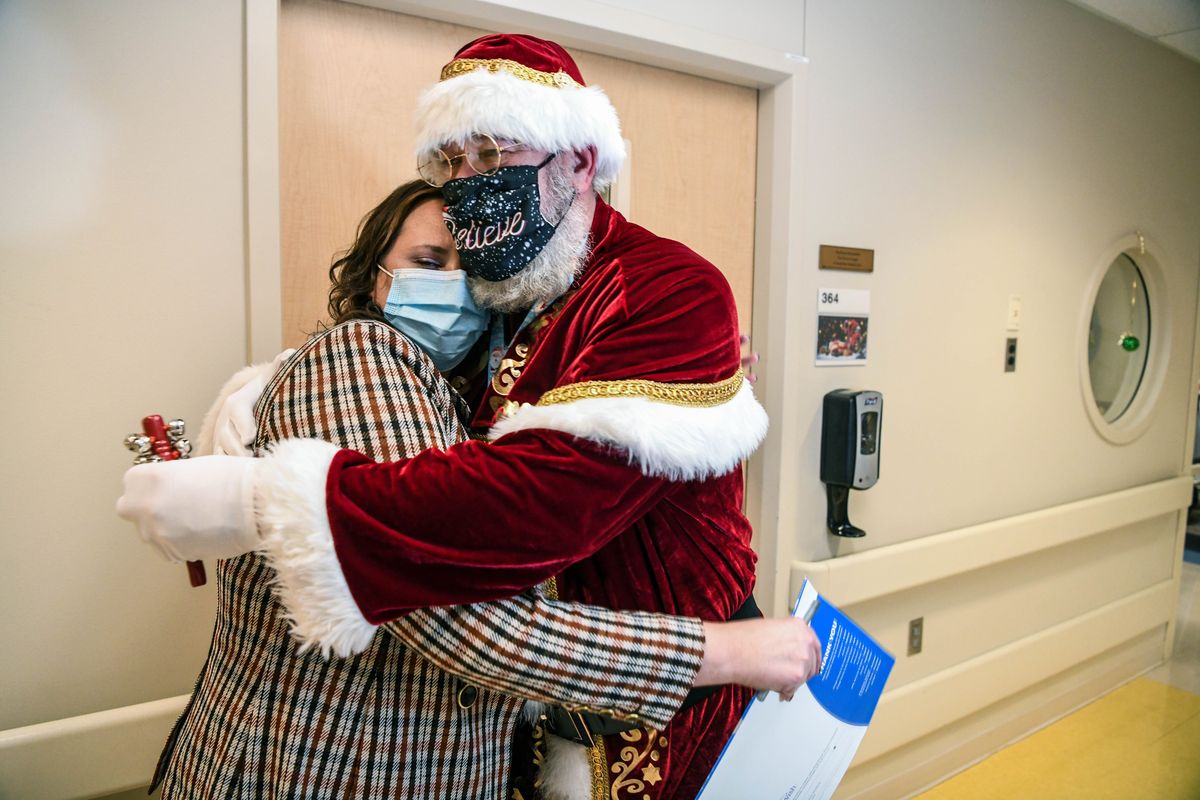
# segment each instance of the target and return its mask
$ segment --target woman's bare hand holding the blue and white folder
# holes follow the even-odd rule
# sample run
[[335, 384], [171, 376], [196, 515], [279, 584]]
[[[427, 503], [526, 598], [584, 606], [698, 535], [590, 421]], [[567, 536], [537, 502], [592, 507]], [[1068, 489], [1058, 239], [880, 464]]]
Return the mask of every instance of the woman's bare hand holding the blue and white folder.
[[704, 622], [704, 660], [696, 686], [740, 684], [792, 699], [821, 670], [821, 642], [796, 616]]

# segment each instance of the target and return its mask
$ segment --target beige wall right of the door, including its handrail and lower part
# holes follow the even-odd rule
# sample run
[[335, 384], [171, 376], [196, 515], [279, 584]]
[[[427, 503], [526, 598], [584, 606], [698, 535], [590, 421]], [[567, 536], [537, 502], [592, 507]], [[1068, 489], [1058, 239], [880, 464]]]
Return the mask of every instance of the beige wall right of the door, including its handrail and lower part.
[[[814, 575], [898, 655], [839, 793], [896, 798], [1163, 657], [1195, 404], [1200, 65], [1057, 2], [810, 0], [805, 41], [798, 342], [822, 287], [869, 289], [872, 313], [868, 366], [790, 359], [791, 582]], [[1098, 272], [1139, 229], [1163, 289], [1158, 393], [1116, 444], [1080, 363]], [[821, 243], [874, 248], [875, 272], [818, 271]], [[859, 541], [822, 518], [820, 401], [839, 386], [884, 396]]]

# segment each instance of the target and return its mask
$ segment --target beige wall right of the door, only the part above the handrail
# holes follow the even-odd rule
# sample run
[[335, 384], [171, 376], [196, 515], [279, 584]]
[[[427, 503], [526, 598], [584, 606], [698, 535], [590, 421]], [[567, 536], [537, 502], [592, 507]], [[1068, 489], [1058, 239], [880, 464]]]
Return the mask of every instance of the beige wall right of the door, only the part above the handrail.
[[[862, 542], [820, 515], [803, 559], [902, 542], [1180, 474], [1200, 277], [1200, 64], [1060, 2], [808, 4], [805, 320], [821, 285], [871, 290], [871, 363], [809, 373], [884, 395], [882, 475], [852, 499]], [[1170, 290], [1146, 433], [1093, 429], [1078, 365], [1096, 271], [1145, 231]], [[874, 247], [874, 275], [818, 272], [816, 245]], [[1003, 372], [1009, 295], [1024, 300]], [[803, 323], [802, 323], [803, 324]], [[1166, 342], [1169, 341], [1169, 344]], [[804, 354], [805, 356], [808, 354]], [[816, 431], [798, 453], [816, 464]], [[820, 486], [797, 488], [822, 506]], [[856, 518], [857, 517], [857, 518]]]

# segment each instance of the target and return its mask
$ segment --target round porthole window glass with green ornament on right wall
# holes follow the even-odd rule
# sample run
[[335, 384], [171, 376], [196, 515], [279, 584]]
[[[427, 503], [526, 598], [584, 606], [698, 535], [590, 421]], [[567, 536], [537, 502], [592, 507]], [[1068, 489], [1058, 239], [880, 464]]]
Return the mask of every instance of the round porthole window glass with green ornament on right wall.
[[1150, 295], [1129, 253], [1114, 259], [1100, 281], [1087, 332], [1087, 372], [1096, 410], [1115, 422], [1129, 410], [1151, 349]]

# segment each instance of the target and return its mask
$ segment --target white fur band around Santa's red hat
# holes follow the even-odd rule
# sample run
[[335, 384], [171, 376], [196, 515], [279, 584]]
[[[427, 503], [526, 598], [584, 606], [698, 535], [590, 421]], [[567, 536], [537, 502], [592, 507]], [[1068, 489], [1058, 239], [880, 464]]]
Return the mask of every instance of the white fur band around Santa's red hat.
[[474, 70], [430, 86], [416, 103], [416, 154], [487, 133], [547, 152], [596, 149], [594, 185], [625, 161], [617, 109], [599, 86], [546, 86], [499, 70]]

